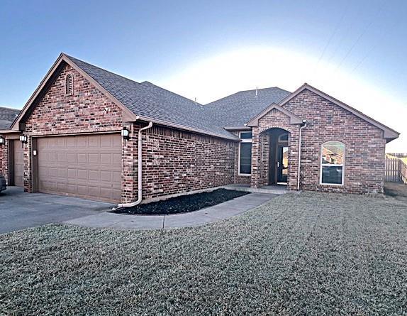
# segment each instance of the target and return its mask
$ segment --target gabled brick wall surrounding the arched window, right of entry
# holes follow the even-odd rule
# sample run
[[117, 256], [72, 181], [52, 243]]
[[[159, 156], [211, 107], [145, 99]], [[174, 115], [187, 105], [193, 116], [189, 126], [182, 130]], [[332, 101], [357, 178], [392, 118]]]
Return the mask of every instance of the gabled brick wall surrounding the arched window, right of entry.
[[[302, 190], [383, 192], [386, 140], [381, 129], [308, 89], [284, 104], [284, 108], [308, 121], [301, 145]], [[326, 141], [345, 143], [343, 186], [319, 184], [320, 151]], [[293, 158], [291, 147], [289, 156]]]

